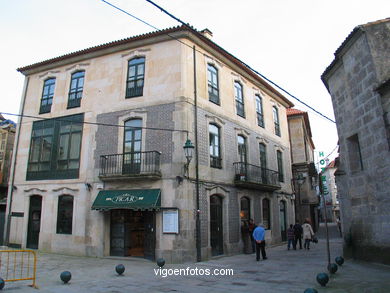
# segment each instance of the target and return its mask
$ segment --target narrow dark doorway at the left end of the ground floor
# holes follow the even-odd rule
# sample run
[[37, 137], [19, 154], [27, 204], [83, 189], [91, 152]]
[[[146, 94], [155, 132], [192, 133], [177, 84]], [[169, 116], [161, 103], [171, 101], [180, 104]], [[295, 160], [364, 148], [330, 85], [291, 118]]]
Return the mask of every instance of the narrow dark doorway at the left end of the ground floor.
[[30, 208], [27, 227], [27, 248], [38, 249], [39, 232], [41, 230], [42, 197], [33, 195], [30, 197]]

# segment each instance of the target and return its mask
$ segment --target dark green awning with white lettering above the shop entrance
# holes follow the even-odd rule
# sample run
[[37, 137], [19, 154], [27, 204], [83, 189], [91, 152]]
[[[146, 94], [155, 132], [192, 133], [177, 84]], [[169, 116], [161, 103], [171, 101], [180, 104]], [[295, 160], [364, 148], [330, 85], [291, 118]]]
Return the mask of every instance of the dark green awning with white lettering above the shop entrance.
[[93, 210], [158, 210], [161, 207], [160, 189], [130, 189], [99, 191]]

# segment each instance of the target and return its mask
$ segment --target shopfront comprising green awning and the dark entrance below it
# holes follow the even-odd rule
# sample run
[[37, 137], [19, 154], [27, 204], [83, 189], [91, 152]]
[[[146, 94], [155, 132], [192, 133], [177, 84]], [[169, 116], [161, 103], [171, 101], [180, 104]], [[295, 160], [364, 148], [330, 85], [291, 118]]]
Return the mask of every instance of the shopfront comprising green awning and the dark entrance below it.
[[155, 259], [160, 189], [100, 191], [92, 209], [110, 213], [110, 255]]

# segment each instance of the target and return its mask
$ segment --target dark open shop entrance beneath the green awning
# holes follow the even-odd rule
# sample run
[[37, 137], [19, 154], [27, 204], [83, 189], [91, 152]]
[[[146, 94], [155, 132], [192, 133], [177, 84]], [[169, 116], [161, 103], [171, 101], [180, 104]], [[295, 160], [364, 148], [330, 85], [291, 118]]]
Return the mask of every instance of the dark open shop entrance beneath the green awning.
[[112, 210], [110, 255], [155, 258], [155, 212]]

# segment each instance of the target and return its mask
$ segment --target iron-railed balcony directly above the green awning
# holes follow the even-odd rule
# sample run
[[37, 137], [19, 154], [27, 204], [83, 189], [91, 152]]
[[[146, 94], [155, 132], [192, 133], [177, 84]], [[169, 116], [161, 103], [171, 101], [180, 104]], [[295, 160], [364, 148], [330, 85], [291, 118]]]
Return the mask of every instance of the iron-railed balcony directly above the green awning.
[[103, 181], [160, 179], [160, 155], [150, 151], [100, 156], [99, 178]]

